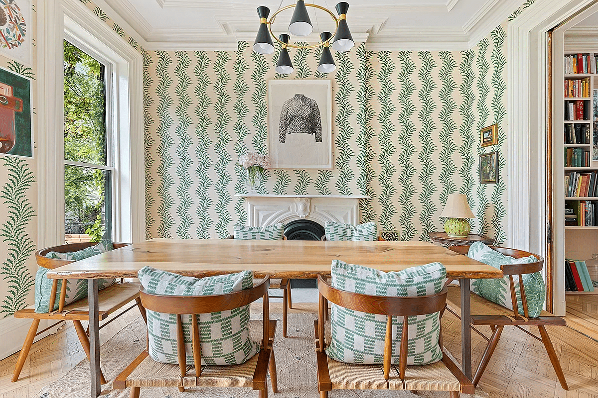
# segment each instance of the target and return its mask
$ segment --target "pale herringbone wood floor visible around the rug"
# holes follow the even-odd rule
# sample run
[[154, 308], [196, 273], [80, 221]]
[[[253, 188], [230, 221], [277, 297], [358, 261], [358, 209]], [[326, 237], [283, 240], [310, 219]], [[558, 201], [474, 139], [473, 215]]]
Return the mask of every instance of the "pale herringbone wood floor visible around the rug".
[[[593, 305], [595, 308], [596, 304]], [[294, 304], [291, 311], [315, 312], [317, 307], [317, 304]], [[253, 310], [261, 311], [259, 306]], [[272, 303], [271, 311], [281, 312], [281, 305]], [[108, 340], [136, 316], [138, 313], [132, 310], [106, 326], [100, 340]], [[490, 335], [489, 329], [487, 332]], [[514, 328], [505, 328], [480, 387], [493, 398], [598, 398], [598, 342], [568, 327], [549, 328], [548, 332], [560, 357], [569, 391], [560, 387], [544, 346]], [[443, 338], [444, 345], [460, 360], [460, 323], [448, 313], [443, 317]], [[475, 333], [472, 339], [473, 357], [477, 361], [486, 341]], [[17, 354], [0, 361], [0, 394], [10, 398], [37, 397], [42, 386], [58, 380], [83, 359], [85, 353], [72, 323], [67, 323], [57, 334], [33, 344], [16, 383], [11, 383], [10, 378]]]

